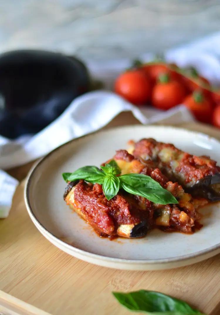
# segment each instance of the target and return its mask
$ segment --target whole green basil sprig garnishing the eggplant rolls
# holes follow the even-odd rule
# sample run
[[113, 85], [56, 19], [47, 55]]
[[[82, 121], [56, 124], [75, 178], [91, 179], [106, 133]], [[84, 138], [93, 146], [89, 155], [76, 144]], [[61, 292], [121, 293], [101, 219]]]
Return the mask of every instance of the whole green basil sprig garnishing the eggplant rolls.
[[98, 169], [96, 166], [84, 166], [73, 173], [63, 173], [65, 181], [84, 179], [92, 184], [102, 185], [102, 190], [108, 200], [117, 195], [120, 188], [133, 195], [139, 195], [159, 203], [178, 203], [176, 198], [164, 189], [156, 180], [144, 174], [125, 174], [118, 176], [121, 169], [111, 160]]

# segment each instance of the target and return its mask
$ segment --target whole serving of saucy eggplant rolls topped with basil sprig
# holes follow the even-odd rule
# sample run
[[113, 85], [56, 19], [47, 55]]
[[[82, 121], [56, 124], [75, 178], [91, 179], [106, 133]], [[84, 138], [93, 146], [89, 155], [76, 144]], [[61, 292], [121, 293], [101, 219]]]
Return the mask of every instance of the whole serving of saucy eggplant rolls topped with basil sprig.
[[212, 172], [214, 175], [215, 162], [201, 157], [206, 165], [196, 168], [203, 164], [199, 164], [199, 157], [196, 160], [192, 156], [197, 162], [194, 168], [188, 169], [189, 174], [183, 164], [187, 153], [173, 145], [152, 139], [130, 144], [133, 154], [119, 150], [101, 169], [88, 166], [72, 174], [64, 173], [64, 179], [69, 182], [65, 202], [100, 236], [137, 238], [155, 227], [164, 231], [195, 232], [201, 227], [196, 209], [208, 201], [199, 195], [192, 197], [183, 186], [191, 188]]

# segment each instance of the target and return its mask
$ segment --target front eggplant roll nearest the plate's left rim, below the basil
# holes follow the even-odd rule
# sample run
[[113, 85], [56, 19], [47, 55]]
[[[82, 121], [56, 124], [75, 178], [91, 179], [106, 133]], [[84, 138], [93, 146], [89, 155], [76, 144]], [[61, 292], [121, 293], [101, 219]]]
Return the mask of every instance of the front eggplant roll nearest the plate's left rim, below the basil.
[[134, 198], [118, 194], [108, 201], [99, 184], [70, 182], [63, 197], [100, 236], [138, 238], [150, 228], [149, 211], [143, 211]]

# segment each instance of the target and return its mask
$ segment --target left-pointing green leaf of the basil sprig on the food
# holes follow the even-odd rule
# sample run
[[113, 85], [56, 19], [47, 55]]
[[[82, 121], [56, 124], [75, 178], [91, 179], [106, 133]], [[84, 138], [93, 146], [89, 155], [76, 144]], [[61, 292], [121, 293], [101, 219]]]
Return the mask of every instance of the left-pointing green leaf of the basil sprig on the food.
[[102, 185], [104, 172], [96, 166], [80, 167], [73, 173], [63, 173], [63, 178], [66, 181], [74, 181], [84, 179], [92, 184], [98, 183]]

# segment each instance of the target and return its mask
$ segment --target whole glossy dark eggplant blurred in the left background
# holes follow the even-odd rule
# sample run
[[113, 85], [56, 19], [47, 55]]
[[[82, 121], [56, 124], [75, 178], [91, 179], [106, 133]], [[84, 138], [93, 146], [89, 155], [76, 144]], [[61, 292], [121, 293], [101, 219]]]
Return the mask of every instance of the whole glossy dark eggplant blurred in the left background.
[[89, 73], [75, 57], [41, 50], [0, 55], [0, 135], [37, 133], [89, 87]]

